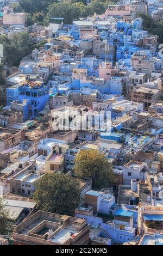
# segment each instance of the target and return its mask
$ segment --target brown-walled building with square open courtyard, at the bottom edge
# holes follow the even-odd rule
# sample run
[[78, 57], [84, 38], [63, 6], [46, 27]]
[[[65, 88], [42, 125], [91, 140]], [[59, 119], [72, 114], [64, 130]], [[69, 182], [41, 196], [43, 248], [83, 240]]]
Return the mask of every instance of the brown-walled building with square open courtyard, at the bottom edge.
[[82, 218], [37, 211], [14, 227], [14, 245], [87, 245], [89, 225]]

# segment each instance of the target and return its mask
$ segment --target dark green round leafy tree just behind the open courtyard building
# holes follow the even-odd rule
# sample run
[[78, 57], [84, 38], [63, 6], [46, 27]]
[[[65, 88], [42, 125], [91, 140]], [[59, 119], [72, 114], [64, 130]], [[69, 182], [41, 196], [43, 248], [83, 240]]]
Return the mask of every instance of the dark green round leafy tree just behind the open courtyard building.
[[71, 215], [80, 202], [78, 182], [65, 174], [46, 174], [35, 182], [37, 208]]

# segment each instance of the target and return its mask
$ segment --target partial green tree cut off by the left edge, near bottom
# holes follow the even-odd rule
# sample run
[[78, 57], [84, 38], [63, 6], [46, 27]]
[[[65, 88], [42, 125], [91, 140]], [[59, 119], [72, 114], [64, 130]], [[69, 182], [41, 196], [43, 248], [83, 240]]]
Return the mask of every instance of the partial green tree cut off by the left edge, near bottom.
[[8, 234], [9, 223], [8, 223], [8, 211], [5, 210], [5, 205], [2, 204], [2, 199], [0, 198], [0, 234]]

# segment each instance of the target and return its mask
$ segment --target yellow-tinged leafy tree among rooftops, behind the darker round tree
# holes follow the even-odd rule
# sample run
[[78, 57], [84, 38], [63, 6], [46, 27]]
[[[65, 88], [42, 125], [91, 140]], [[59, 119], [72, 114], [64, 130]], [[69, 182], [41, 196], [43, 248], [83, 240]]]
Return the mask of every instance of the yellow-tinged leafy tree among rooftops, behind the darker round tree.
[[107, 187], [113, 179], [112, 168], [98, 150], [80, 150], [75, 159], [74, 174], [80, 179], [91, 178], [93, 188]]

